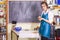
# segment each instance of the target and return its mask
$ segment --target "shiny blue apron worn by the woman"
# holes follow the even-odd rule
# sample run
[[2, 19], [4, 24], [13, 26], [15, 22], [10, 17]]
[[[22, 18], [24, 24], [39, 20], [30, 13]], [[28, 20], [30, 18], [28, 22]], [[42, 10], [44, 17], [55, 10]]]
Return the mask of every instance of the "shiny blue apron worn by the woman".
[[[46, 19], [46, 20], [49, 20], [48, 19], [48, 13], [47, 14], [42, 14], [42, 18]], [[44, 20], [41, 20], [41, 25], [40, 25], [40, 28], [39, 28], [39, 34], [41, 36], [44, 36], [46, 38], [50, 38], [50, 24], [45, 22]]]

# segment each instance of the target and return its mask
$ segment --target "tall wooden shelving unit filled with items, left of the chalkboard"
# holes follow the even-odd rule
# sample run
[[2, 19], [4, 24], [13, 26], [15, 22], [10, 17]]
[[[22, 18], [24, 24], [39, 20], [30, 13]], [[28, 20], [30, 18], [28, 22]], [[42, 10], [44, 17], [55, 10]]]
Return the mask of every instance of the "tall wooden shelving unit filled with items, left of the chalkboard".
[[8, 0], [0, 0], [0, 40], [8, 40]]

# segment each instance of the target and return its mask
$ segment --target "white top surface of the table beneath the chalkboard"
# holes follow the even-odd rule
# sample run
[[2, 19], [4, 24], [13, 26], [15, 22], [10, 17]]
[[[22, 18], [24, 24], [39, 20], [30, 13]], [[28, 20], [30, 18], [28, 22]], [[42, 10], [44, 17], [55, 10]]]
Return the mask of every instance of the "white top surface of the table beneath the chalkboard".
[[32, 30], [29, 30], [29, 31], [15, 31], [15, 30], [12, 30], [13, 32], [15, 32], [19, 38], [39, 38], [39, 33], [37, 31], [32, 31]]

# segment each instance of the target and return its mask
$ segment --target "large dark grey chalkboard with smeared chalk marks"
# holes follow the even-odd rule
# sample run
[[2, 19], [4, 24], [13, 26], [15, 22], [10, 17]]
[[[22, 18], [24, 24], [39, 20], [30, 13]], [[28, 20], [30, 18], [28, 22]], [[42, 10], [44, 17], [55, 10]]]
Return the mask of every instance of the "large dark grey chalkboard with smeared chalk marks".
[[41, 1], [9, 1], [9, 22], [38, 22]]

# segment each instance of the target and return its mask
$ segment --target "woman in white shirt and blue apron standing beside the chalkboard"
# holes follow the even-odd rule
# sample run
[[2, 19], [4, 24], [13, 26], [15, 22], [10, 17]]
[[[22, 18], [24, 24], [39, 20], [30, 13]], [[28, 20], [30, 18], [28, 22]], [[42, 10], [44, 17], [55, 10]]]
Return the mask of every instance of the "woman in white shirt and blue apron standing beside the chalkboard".
[[39, 34], [41, 35], [41, 40], [49, 40], [51, 26], [53, 23], [53, 13], [48, 9], [48, 5], [46, 2], [41, 3], [42, 7], [42, 15], [38, 17], [38, 20], [41, 21], [41, 25], [39, 28]]

